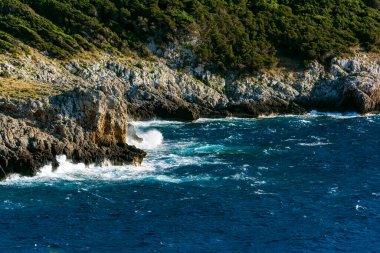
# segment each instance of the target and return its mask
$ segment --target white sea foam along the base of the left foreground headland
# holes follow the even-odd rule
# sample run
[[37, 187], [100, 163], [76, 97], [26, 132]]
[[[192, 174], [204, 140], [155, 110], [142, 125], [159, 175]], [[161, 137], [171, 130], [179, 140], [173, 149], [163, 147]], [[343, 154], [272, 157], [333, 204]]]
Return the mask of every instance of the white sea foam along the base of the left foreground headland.
[[24, 177], [17, 174], [9, 176], [1, 181], [0, 185], [35, 186], [39, 184], [52, 186], [55, 182], [69, 182], [75, 184], [96, 182], [128, 182], [141, 180], [154, 180], [169, 183], [182, 183], [190, 181], [209, 180], [208, 176], [185, 176], [177, 177], [166, 175], [166, 172], [181, 166], [222, 164], [217, 159], [201, 157], [184, 157], [175, 154], [167, 154], [156, 157], [147, 157], [141, 166], [125, 165], [112, 166], [105, 162], [101, 166], [74, 164], [66, 159], [66, 156], [58, 156], [59, 166], [56, 170], [51, 165], [44, 166], [34, 177]]

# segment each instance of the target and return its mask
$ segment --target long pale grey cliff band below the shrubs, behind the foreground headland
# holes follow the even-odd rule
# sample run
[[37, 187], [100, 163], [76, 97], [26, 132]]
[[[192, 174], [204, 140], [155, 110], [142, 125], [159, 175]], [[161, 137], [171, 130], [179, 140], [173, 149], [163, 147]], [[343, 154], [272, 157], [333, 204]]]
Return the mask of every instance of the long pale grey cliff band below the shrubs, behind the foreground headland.
[[[360, 113], [379, 110], [377, 54], [334, 58], [328, 67], [313, 62], [302, 70], [277, 68], [244, 77], [220, 76], [203, 66], [176, 67], [181, 65], [173, 64], [173, 59], [143, 60], [100, 53], [61, 62], [34, 52], [17, 57], [2, 55], [0, 73], [8, 77], [2, 78], [3, 86], [12, 79], [22, 80], [47, 96], [76, 87], [100, 91], [105, 97], [95, 98], [98, 107], [104, 107], [105, 101], [125, 103], [121, 105], [127, 111], [123, 117], [134, 119], [254, 117], [302, 113], [311, 108]], [[18, 95], [23, 96], [22, 91]], [[41, 100], [39, 96], [37, 101]]]

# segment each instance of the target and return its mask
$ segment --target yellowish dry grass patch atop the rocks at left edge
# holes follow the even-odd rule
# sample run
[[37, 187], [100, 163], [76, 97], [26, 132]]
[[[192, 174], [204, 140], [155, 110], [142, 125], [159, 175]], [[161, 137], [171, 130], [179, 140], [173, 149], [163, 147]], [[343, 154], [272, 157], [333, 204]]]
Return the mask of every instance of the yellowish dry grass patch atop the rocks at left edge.
[[59, 89], [50, 84], [14, 78], [0, 78], [0, 96], [26, 99], [53, 96], [60, 92]]

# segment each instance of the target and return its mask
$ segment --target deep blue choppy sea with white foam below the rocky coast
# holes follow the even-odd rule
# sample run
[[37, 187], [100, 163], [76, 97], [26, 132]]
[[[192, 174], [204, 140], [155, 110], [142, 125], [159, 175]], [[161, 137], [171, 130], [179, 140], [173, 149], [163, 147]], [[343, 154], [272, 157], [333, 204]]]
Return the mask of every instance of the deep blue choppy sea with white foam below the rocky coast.
[[0, 252], [380, 252], [379, 115], [134, 125], [141, 167], [0, 182]]

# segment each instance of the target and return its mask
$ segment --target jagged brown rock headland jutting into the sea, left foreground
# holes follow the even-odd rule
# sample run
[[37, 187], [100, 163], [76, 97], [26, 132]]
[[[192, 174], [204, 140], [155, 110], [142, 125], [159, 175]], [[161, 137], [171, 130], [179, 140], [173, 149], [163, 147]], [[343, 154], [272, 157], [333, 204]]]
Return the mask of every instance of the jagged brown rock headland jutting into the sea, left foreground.
[[0, 178], [33, 176], [56, 155], [74, 162], [138, 165], [146, 153], [125, 144], [126, 103], [101, 90], [79, 89], [40, 100], [0, 101]]

